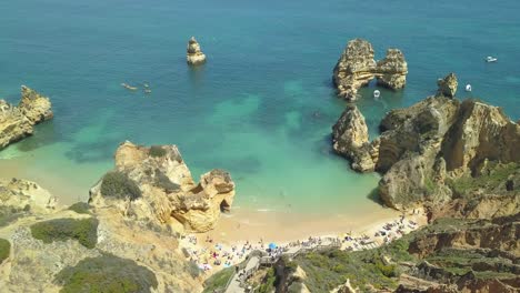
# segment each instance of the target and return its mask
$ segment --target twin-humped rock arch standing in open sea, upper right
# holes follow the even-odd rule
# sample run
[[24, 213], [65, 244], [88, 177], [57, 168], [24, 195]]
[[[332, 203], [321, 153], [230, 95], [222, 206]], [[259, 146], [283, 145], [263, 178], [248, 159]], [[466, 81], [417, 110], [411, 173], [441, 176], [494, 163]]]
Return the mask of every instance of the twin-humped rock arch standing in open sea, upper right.
[[357, 100], [358, 89], [374, 78], [378, 84], [389, 89], [406, 85], [408, 64], [398, 49], [389, 49], [387, 57], [379, 62], [373, 59], [373, 48], [362, 39], [349, 41], [333, 70], [333, 83], [338, 94], [346, 100]]

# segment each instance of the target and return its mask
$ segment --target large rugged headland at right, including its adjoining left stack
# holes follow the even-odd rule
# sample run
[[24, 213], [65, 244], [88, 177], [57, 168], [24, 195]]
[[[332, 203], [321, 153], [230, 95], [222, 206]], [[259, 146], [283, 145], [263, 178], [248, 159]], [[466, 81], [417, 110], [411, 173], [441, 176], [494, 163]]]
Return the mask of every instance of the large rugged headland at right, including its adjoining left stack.
[[364, 125], [357, 109], [348, 108], [333, 128], [333, 148], [354, 170], [383, 174], [379, 192], [391, 208], [446, 203], [460, 193], [457, 182], [494, 172], [490, 168], [497, 162], [520, 163], [520, 125], [500, 108], [452, 99], [453, 80], [450, 74], [439, 82], [442, 94], [387, 113], [372, 142], [363, 137], [362, 143], [352, 143], [352, 133], [363, 133], [358, 129]]

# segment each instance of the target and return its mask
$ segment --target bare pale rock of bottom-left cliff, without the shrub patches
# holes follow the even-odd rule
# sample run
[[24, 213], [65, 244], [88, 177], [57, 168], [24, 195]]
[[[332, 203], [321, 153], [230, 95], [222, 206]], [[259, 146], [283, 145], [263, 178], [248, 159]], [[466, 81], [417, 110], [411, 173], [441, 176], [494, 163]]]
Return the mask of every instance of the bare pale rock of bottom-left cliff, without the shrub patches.
[[[62, 284], [56, 280], [61, 272], [87, 257], [102, 257], [107, 253], [151, 270], [158, 283], [152, 292], [202, 291], [202, 280], [184, 261], [173, 233], [129, 221], [118, 213], [117, 206], [80, 214], [56, 205], [52, 199], [34, 182], [0, 181], [0, 239], [10, 243], [9, 256], [0, 262], [0, 287], [3, 290], [0, 291], [59, 292]], [[60, 239], [59, 226], [54, 231], [57, 239], [50, 243], [31, 233], [31, 225], [40, 221], [92, 218], [99, 222], [96, 247], [86, 247], [77, 239]], [[89, 287], [78, 290], [89, 291]]]

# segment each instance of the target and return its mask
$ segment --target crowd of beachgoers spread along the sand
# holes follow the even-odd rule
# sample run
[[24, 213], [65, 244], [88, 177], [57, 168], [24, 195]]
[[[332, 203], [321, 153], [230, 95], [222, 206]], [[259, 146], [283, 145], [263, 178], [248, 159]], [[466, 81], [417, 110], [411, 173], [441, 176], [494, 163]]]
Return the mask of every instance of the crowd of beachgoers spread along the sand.
[[[272, 261], [278, 260], [283, 253], [310, 250], [319, 246], [337, 246], [347, 251], [359, 251], [373, 249], [382, 244], [401, 238], [402, 235], [417, 230], [420, 225], [412, 219], [401, 215], [399, 219], [388, 221], [381, 225], [372, 226], [372, 236], [367, 234], [344, 233], [333, 236], [310, 236], [303, 241], [293, 241], [282, 245], [269, 243], [266, 245], [263, 239], [252, 243], [250, 241], [237, 242], [231, 245], [217, 242], [206, 235], [203, 243], [196, 235], [181, 236], [181, 247], [189, 261], [204, 272], [213, 273], [217, 270], [230, 267], [243, 262], [252, 251], [262, 251]], [[369, 233], [369, 232], [367, 232]]]

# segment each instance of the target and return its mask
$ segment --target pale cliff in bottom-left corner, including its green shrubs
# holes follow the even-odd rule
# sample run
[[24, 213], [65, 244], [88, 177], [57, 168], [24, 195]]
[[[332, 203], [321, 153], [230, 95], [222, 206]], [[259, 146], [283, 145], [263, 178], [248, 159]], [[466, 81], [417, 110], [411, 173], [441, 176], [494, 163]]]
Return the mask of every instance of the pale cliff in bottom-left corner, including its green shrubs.
[[173, 233], [128, 221], [110, 206], [94, 213], [53, 199], [34, 182], [0, 182], [0, 240], [10, 244], [0, 259], [0, 291], [202, 291], [199, 270], [184, 261]]

